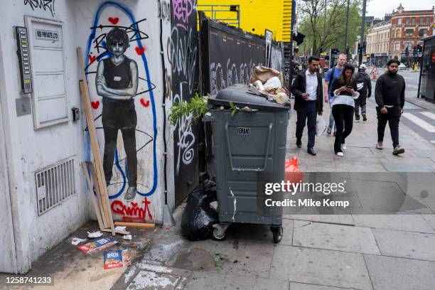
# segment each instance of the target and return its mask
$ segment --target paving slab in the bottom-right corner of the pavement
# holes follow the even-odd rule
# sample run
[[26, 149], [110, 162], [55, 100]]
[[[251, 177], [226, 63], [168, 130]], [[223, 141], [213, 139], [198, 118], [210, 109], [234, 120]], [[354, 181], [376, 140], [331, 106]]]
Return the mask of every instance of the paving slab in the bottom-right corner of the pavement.
[[435, 262], [365, 254], [375, 290], [434, 290]]

